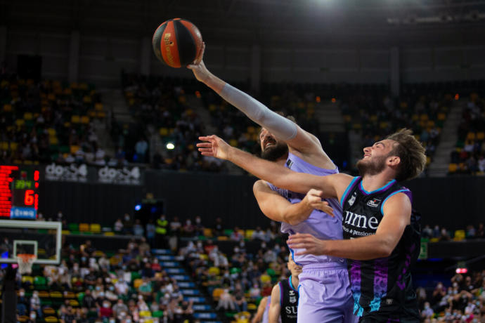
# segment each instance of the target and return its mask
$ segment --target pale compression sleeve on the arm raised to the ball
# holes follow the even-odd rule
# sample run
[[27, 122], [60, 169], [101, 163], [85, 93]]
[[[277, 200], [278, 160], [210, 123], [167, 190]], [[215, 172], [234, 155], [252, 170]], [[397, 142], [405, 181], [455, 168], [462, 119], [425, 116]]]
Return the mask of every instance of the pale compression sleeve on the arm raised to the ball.
[[281, 140], [290, 140], [297, 136], [297, 125], [295, 122], [280, 116], [269, 110], [266, 105], [255, 100], [250, 95], [226, 83], [220, 93], [228, 103], [234, 105], [241, 112], [247, 115], [252, 121], [259, 124]]

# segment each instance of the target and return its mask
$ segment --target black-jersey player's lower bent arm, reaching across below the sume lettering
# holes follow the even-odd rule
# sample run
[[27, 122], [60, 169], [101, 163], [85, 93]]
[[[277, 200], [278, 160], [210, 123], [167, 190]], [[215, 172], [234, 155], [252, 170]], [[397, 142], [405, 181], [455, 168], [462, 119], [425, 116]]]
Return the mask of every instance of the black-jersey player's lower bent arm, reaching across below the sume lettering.
[[305, 249], [299, 254], [328, 255], [355, 260], [369, 260], [389, 256], [410, 223], [411, 203], [407, 195], [398, 193], [384, 204], [384, 217], [375, 235], [349, 240], [321, 240], [309, 234], [291, 235], [292, 249]]

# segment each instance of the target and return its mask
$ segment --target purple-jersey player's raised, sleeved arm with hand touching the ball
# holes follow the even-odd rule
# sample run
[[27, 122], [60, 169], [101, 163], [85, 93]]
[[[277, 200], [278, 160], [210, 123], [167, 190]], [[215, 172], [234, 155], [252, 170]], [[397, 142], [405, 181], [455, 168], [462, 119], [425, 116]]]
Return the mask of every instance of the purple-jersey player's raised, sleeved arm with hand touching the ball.
[[202, 45], [202, 51], [195, 62], [192, 65], [188, 65], [188, 68], [192, 70], [199, 81], [212, 88], [224, 100], [237, 107], [238, 110], [246, 114], [248, 118], [259, 124], [259, 126], [268, 129], [281, 140], [285, 140], [287, 145], [293, 147], [293, 149], [300, 152], [323, 153], [320, 141], [311, 133], [304, 131], [294, 122], [271, 111], [266, 105], [209, 72], [202, 60], [204, 50], [205, 44]]

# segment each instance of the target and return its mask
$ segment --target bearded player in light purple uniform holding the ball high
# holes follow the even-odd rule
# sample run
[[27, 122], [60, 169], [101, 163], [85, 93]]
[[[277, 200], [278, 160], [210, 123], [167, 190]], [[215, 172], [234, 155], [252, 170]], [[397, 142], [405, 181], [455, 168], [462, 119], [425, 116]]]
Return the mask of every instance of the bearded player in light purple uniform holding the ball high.
[[[202, 62], [204, 48], [205, 45], [198, 59], [188, 68], [199, 81], [262, 127], [259, 136], [262, 157], [296, 172], [318, 176], [338, 173], [318, 138], [209, 72]], [[342, 239], [342, 206], [337, 199], [327, 200], [335, 213], [330, 216], [310, 207], [304, 194], [263, 181], [254, 184], [254, 196], [266, 216], [282, 222], [282, 232], [289, 235], [309, 233], [319, 239]], [[320, 209], [325, 210], [325, 207]], [[295, 250], [291, 251], [295, 263], [303, 267], [299, 275], [298, 320], [309, 323], [354, 322], [345, 260], [325, 255], [295, 256]]]

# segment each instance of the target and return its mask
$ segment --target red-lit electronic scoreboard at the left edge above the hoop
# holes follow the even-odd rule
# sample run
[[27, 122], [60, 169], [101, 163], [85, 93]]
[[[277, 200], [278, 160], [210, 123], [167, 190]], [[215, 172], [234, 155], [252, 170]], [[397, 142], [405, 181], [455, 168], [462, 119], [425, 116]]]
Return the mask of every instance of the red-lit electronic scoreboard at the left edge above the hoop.
[[0, 218], [37, 218], [39, 171], [0, 165]]

